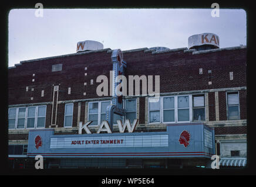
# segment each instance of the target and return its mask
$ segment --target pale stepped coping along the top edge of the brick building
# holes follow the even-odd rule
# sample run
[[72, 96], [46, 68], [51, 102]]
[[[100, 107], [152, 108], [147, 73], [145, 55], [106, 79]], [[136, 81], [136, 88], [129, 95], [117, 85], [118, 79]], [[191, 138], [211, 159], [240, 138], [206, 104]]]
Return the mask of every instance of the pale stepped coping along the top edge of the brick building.
[[[177, 49], [156, 51], [154, 49], [148, 49], [147, 47], [144, 47], [144, 48], [133, 49], [133, 50], [124, 50], [122, 52], [123, 53], [132, 53], [132, 52], [136, 52], [136, 51], [144, 51], [144, 53], [151, 52], [151, 54], [159, 54], [159, 53], [170, 53], [170, 52], [176, 52], [176, 51], [183, 50], [184, 53], [192, 52], [192, 54], [202, 54], [202, 53], [211, 53], [211, 52], [225, 51], [225, 50], [237, 50], [237, 49], [245, 49], [245, 48], [247, 48], [247, 46], [235, 46], [235, 47], [225, 47], [225, 48], [220, 48], [220, 49], [210, 49], [210, 50], [197, 51], [195, 49], [187, 49], [187, 47], [182, 47], [182, 48], [177, 48]], [[18, 65], [22, 65], [23, 63], [30, 63], [30, 62], [33, 62], [33, 61], [49, 60], [49, 59], [53, 59], [53, 58], [69, 57], [69, 56], [76, 56], [76, 55], [82, 55], [82, 54], [97, 53], [97, 52], [102, 52], [102, 51], [107, 51], [107, 53], [111, 53], [113, 50], [110, 49], [110, 48], [106, 48], [106, 49], [101, 49], [101, 50], [92, 50], [92, 51], [84, 51], [84, 52], [79, 52], [79, 53], [64, 54], [64, 55], [60, 55], [60, 56], [36, 58], [36, 59], [32, 59], [32, 60], [23, 60], [19, 64], [15, 64], [15, 66], [8, 67], [8, 69], [14, 69]]]

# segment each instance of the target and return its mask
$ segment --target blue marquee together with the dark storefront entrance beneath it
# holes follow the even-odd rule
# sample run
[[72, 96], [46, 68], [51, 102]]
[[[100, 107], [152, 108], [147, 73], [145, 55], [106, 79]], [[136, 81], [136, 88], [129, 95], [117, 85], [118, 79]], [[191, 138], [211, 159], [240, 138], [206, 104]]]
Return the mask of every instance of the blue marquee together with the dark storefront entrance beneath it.
[[203, 123], [143, 133], [55, 135], [54, 129], [30, 130], [28, 157], [42, 155], [49, 168], [178, 167], [186, 159], [210, 161], [214, 141], [214, 130]]

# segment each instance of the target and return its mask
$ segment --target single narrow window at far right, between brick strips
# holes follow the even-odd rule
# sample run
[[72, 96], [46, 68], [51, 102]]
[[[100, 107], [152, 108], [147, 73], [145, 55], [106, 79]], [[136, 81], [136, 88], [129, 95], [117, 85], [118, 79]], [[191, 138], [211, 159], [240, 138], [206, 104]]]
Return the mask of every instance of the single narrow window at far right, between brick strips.
[[227, 93], [227, 117], [228, 120], [240, 119], [238, 92]]

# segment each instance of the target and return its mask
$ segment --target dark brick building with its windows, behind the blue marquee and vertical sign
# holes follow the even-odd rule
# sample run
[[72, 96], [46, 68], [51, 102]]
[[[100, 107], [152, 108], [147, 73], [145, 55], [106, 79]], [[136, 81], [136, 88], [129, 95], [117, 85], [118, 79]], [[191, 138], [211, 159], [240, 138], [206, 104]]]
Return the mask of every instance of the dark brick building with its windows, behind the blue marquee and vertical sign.
[[[34, 167], [35, 155], [31, 158], [28, 153], [29, 132], [52, 130], [54, 136], [82, 136], [78, 134], [79, 122], [93, 121], [88, 127], [96, 133], [106, 119], [106, 106], [112, 102], [111, 93], [110, 96], [97, 95], [96, 89], [101, 82], [96, 79], [99, 75], [110, 79], [112, 53], [112, 49], [102, 47], [25, 60], [9, 67], [10, 167]], [[114, 115], [114, 122], [116, 119], [123, 122], [124, 119], [131, 122], [138, 119], [134, 133], [141, 134], [164, 133], [176, 124], [200, 123], [214, 129], [213, 149], [220, 155], [221, 167], [246, 165], [246, 46], [222, 49], [210, 45], [180, 49], [153, 47], [122, 53], [127, 64], [124, 71], [127, 78], [129, 75], [160, 75], [160, 100], [151, 105], [149, 94], [142, 95], [140, 85], [140, 95], [123, 96], [126, 116]], [[178, 102], [184, 102], [183, 107]], [[113, 134], [118, 132], [117, 124], [113, 124]], [[103, 135], [106, 133], [97, 134]], [[209, 167], [210, 161], [210, 157], [193, 156], [186, 159], [163, 155], [161, 158], [146, 155], [139, 158], [63, 156], [45, 158], [45, 167], [186, 168]]]

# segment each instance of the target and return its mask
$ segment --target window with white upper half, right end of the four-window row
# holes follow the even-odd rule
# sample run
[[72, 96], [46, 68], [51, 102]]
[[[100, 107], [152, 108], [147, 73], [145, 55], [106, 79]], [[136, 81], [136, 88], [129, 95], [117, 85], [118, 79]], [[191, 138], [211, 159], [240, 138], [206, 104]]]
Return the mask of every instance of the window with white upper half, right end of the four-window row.
[[205, 120], [204, 95], [193, 95], [193, 121]]

